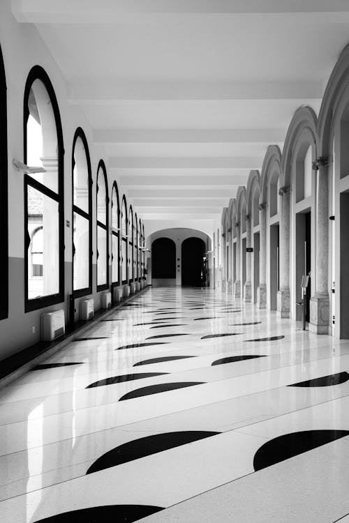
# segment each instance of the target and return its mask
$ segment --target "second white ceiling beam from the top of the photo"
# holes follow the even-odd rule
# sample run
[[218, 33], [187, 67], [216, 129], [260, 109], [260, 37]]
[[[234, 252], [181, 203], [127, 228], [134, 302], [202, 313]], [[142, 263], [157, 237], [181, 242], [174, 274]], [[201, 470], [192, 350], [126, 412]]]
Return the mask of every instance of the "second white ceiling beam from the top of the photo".
[[195, 102], [222, 100], [318, 100], [320, 80], [275, 80], [254, 82], [139, 82], [89, 79], [68, 84], [72, 105], [130, 105], [144, 103]]

